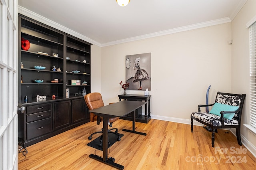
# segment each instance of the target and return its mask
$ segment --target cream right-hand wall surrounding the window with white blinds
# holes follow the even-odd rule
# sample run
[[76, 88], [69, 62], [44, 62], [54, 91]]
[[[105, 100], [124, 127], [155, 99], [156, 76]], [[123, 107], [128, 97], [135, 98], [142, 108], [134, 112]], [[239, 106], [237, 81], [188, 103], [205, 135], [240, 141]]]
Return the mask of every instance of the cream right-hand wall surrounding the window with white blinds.
[[[248, 0], [232, 21], [232, 92], [245, 93], [246, 102], [242, 114], [242, 124], [249, 124], [249, 29], [247, 22], [256, 16], [256, 1]], [[241, 126], [242, 142], [256, 155], [256, 136], [248, 128]]]

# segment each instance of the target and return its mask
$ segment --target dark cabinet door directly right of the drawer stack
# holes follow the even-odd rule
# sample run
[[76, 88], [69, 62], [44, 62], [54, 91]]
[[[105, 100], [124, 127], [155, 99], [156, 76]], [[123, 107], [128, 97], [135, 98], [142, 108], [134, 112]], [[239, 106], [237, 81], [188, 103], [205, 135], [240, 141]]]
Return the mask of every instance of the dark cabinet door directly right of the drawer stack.
[[54, 130], [72, 124], [71, 101], [60, 101], [53, 103], [53, 128]]

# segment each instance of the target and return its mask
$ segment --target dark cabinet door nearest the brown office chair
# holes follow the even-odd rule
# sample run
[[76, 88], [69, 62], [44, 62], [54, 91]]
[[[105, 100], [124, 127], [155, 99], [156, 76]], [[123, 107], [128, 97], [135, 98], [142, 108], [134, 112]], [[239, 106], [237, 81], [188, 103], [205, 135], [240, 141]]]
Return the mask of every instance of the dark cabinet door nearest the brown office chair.
[[86, 105], [84, 98], [72, 100], [72, 123], [86, 119]]

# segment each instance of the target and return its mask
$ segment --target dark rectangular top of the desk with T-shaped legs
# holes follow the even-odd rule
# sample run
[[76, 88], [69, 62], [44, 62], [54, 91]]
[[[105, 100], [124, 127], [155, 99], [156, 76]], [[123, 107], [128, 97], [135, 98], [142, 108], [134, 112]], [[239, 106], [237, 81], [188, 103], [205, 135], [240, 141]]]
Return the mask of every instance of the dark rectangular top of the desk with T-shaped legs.
[[120, 101], [88, 112], [102, 117], [124, 117], [145, 104], [144, 101]]

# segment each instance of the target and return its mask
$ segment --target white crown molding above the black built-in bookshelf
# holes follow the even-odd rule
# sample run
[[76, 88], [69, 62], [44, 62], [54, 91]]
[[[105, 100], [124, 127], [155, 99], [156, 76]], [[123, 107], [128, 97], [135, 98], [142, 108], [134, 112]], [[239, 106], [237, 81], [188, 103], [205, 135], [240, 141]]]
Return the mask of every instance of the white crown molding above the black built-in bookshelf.
[[60, 25], [56, 22], [53, 22], [52, 20], [49, 20], [49, 19], [47, 19], [43, 16], [40, 16], [40, 15], [36, 14], [35, 12], [32, 12], [32, 11], [22, 7], [22, 6], [18, 6], [18, 13], [20, 13], [24, 16], [27, 16], [29, 18], [32, 18], [34, 20], [37, 20], [38, 22], [41, 22], [41, 23], [46, 24], [48, 26], [51, 26], [53, 28], [56, 28], [57, 30], [60, 30], [60, 31], [65, 32], [67, 34], [70, 34], [74, 37], [80, 38], [81, 40], [84, 40], [86, 42], [101, 46], [100, 43], [98, 43], [98, 42], [96, 42], [96, 41], [94, 41], [94, 40], [92, 40], [92, 39], [90, 39], [90, 38], [88, 38], [88, 37], [86, 37], [82, 34], [74, 32], [73, 30], [70, 30], [69, 28], [66, 28], [66, 27], [64, 27], [64, 26], [62, 26], [62, 25]]

